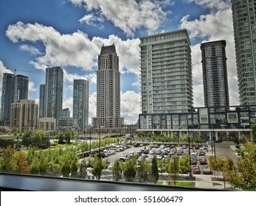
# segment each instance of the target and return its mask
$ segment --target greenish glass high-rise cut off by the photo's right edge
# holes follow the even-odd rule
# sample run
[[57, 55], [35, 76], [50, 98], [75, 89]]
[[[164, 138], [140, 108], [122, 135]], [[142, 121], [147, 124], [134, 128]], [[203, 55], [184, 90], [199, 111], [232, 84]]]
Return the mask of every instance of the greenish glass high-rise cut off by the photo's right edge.
[[241, 105], [256, 104], [256, 0], [232, 0]]

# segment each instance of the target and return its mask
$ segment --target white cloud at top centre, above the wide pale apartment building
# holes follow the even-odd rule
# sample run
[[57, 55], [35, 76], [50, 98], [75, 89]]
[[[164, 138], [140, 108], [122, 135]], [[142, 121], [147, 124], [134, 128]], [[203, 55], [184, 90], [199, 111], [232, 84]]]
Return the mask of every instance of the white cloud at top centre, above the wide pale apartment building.
[[81, 18], [81, 22], [87, 24], [99, 20], [102, 22], [104, 17], [129, 36], [133, 36], [136, 29], [142, 27], [148, 32], [155, 32], [166, 21], [167, 12], [162, 10], [162, 7], [173, 4], [170, 0], [117, 0], [114, 3], [112, 0], [71, 0], [71, 2], [91, 12]]

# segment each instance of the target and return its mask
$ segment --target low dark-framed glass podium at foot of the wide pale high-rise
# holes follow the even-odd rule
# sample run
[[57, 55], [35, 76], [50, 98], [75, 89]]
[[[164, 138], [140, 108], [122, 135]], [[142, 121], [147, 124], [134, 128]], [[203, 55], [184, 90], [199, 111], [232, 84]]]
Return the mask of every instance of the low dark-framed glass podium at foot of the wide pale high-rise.
[[139, 114], [141, 132], [173, 136], [179, 133], [212, 140], [235, 138], [250, 134], [256, 124], [256, 105], [229, 107], [191, 107], [189, 113]]

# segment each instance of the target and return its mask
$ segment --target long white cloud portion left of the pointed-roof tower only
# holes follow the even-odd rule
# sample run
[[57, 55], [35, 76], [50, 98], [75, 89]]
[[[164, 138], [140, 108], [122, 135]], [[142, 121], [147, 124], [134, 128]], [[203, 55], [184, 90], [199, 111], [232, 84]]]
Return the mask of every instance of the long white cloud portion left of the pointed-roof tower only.
[[24, 24], [18, 21], [16, 24], [8, 26], [6, 35], [13, 43], [20, 41], [44, 43], [45, 54], [36, 58], [35, 62], [32, 61], [31, 63], [34, 65], [70, 65], [90, 70], [95, 54], [99, 51], [99, 48], [91, 43], [83, 32], [77, 31], [71, 35], [61, 35], [53, 27], [37, 23]]

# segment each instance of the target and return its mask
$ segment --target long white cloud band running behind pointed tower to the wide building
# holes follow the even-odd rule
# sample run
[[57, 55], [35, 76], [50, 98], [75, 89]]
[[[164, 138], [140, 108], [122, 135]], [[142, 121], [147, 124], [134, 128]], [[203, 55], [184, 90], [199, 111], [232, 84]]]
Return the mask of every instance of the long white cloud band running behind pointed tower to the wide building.
[[[25, 41], [44, 43], [45, 54], [30, 61], [30, 64], [39, 69], [60, 65], [91, 71], [97, 67], [97, 56], [100, 54], [101, 46], [115, 43], [117, 54], [120, 56], [120, 69], [125, 68], [139, 75], [139, 39], [122, 40], [116, 35], [110, 35], [108, 39], [95, 37], [89, 40], [84, 32], [77, 31], [64, 35], [51, 26], [37, 23], [24, 24], [21, 21], [8, 26], [6, 35], [13, 43]], [[22, 48], [29, 49], [28, 46]], [[35, 51], [35, 48], [33, 50]]]

